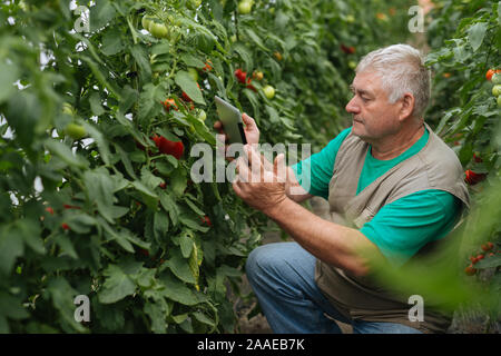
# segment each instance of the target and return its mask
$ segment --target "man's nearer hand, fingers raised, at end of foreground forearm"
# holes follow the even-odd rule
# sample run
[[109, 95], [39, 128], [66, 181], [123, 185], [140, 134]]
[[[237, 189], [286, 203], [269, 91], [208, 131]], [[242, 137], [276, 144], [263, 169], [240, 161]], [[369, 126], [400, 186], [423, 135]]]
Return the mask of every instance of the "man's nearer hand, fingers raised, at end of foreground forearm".
[[245, 152], [247, 157], [237, 159], [233, 189], [250, 207], [269, 215], [287, 199], [284, 155], [278, 155], [272, 165], [250, 145], [245, 146]]

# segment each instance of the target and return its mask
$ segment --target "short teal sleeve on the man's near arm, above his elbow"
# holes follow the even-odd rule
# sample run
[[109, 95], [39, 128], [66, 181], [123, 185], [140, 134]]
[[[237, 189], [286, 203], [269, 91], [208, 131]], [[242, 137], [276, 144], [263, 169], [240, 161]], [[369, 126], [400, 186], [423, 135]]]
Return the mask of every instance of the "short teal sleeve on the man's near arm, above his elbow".
[[390, 263], [401, 266], [424, 245], [452, 230], [461, 205], [459, 198], [443, 190], [418, 191], [384, 206], [361, 233]]

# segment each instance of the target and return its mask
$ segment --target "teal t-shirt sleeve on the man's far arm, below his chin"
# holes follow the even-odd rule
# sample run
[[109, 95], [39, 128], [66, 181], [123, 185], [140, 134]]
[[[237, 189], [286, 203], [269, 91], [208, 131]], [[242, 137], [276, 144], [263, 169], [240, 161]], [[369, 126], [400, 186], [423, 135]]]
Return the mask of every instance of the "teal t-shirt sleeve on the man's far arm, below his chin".
[[304, 190], [313, 196], [328, 199], [328, 184], [332, 179], [336, 155], [351, 130], [350, 127], [341, 131], [320, 152], [291, 167]]

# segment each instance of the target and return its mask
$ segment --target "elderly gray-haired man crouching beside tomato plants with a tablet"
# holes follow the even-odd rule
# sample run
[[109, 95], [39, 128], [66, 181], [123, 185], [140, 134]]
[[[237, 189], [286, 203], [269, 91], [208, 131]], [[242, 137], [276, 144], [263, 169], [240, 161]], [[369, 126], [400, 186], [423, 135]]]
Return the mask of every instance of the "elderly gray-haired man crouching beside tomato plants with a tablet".
[[[340, 333], [333, 319], [354, 333], [445, 332], [450, 316], [426, 304], [424, 318], [411, 322], [409, 296], [379, 286], [365, 255], [400, 268], [444, 238], [469, 206], [461, 164], [423, 120], [430, 72], [418, 50], [390, 46], [362, 59], [351, 89], [353, 126], [284, 168], [285, 182], [269, 182], [283, 156], [272, 165], [247, 145], [248, 161], [238, 159], [237, 196], [295, 240], [256, 248], [248, 279], [276, 333]], [[244, 121], [248, 141], [257, 142], [254, 120]], [[268, 182], [255, 176], [259, 170]], [[291, 194], [305, 179], [308, 190]], [[328, 200], [331, 220], [298, 204], [312, 196]]]

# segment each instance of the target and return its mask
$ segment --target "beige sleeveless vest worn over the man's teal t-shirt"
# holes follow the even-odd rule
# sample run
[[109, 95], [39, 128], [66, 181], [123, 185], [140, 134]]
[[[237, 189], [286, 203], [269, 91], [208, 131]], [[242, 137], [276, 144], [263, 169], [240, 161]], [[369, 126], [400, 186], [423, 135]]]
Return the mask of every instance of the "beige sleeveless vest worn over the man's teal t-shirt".
[[[449, 191], [463, 202], [463, 208], [469, 207], [468, 188], [456, 155], [426, 123], [425, 127], [430, 138], [423, 149], [379, 177], [358, 195], [356, 189], [369, 144], [352, 134], [345, 138], [330, 182], [333, 222], [360, 229], [386, 204], [424, 189]], [[430, 245], [433, 243], [418, 255], [428, 251]], [[352, 319], [400, 323], [424, 333], [445, 332], [451, 320], [451, 316], [425, 306], [424, 322], [410, 322], [409, 309], [412, 306], [406, 298], [377, 286], [370, 277], [355, 277], [321, 260], [316, 264], [315, 278], [330, 301]]]

